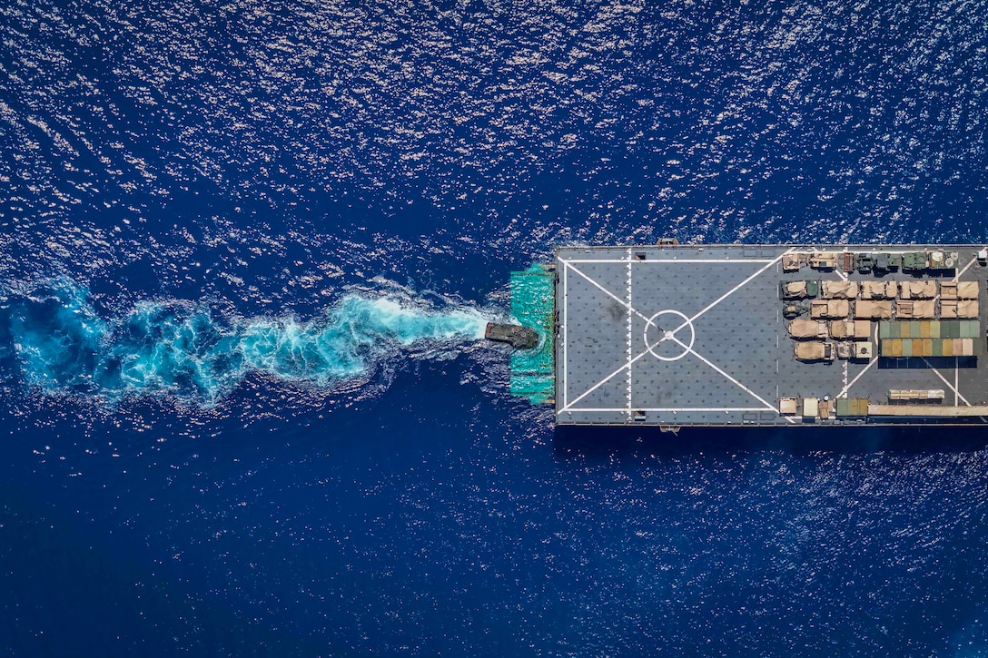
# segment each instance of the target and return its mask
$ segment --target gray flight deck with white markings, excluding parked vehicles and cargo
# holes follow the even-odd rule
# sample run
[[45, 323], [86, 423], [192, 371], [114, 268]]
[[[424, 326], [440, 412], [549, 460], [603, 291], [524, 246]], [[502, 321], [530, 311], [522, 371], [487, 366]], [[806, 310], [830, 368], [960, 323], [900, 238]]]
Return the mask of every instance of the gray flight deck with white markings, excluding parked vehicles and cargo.
[[[984, 423], [988, 407], [985, 280], [975, 245], [675, 245], [566, 247], [555, 252], [559, 425], [800, 426]], [[783, 272], [785, 254], [957, 252], [949, 270], [813, 269]], [[791, 260], [793, 257], [786, 257]], [[978, 333], [967, 358], [873, 356], [805, 363], [793, 356], [780, 283], [785, 281], [977, 281]], [[938, 284], [938, 290], [940, 284]], [[818, 295], [819, 296], [819, 295]], [[899, 302], [895, 302], [899, 303]], [[935, 300], [940, 312], [941, 301]], [[893, 317], [893, 319], [895, 319]], [[930, 405], [889, 391], [941, 389]], [[800, 411], [783, 410], [783, 398]], [[867, 414], [838, 416], [839, 398], [867, 398]], [[815, 399], [830, 413], [809, 415]], [[829, 402], [827, 402], [829, 400]], [[952, 407], [952, 409], [946, 409]], [[884, 412], [879, 412], [884, 409]], [[892, 409], [891, 412], [888, 409]], [[785, 411], [783, 415], [782, 411]], [[872, 415], [874, 412], [874, 415]]]

